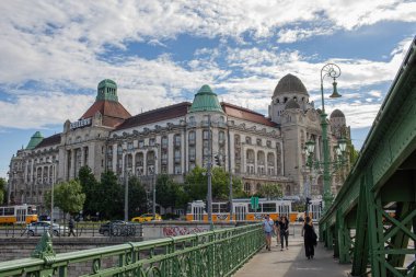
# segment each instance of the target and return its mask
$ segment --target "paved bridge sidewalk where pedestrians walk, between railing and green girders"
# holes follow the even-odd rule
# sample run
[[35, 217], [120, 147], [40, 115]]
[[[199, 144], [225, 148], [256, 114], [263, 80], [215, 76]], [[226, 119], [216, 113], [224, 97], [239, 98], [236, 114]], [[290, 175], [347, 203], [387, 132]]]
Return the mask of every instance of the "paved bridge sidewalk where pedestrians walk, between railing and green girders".
[[289, 238], [289, 250], [285, 251], [280, 251], [276, 239], [273, 239], [271, 251], [263, 249], [234, 277], [346, 277], [351, 270], [351, 265], [340, 265], [333, 258], [333, 252], [326, 251], [322, 243], [317, 243], [314, 259], [308, 261], [302, 238]]

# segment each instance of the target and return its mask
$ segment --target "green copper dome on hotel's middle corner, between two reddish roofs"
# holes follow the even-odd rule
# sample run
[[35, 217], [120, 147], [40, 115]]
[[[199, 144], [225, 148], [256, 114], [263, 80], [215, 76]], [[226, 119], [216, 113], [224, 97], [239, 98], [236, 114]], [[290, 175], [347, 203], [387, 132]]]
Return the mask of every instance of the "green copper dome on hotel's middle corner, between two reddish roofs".
[[195, 112], [219, 112], [223, 113], [217, 94], [215, 94], [208, 84], [204, 84], [195, 94], [189, 113]]

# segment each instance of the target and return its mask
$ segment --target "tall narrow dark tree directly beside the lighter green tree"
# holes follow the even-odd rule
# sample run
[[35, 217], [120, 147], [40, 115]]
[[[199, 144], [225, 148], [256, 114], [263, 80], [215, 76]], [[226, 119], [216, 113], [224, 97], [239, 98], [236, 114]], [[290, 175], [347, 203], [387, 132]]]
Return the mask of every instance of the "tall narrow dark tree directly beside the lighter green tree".
[[83, 215], [84, 217], [95, 216], [100, 206], [100, 199], [96, 197], [96, 191], [100, 189], [100, 184], [91, 169], [86, 165], [80, 169], [78, 177], [82, 186], [82, 193], [85, 194]]

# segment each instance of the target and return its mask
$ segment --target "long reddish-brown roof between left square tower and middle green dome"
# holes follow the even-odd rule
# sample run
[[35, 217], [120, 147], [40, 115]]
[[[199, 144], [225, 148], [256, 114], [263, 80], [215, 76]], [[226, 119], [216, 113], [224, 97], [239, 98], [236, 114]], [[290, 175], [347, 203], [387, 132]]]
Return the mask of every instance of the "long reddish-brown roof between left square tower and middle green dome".
[[172, 118], [177, 118], [185, 116], [190, 107], [192, 103], [182, 102], [178, 104], [152, 109], [146, 113], [135, 115], [130, 118], [127, 118], [122, 125], [119, 125], [116, 130], [127, 129], [136, 126], [141, 126], [146, 124], [158, 123], [162, 120], [169, 120]]

